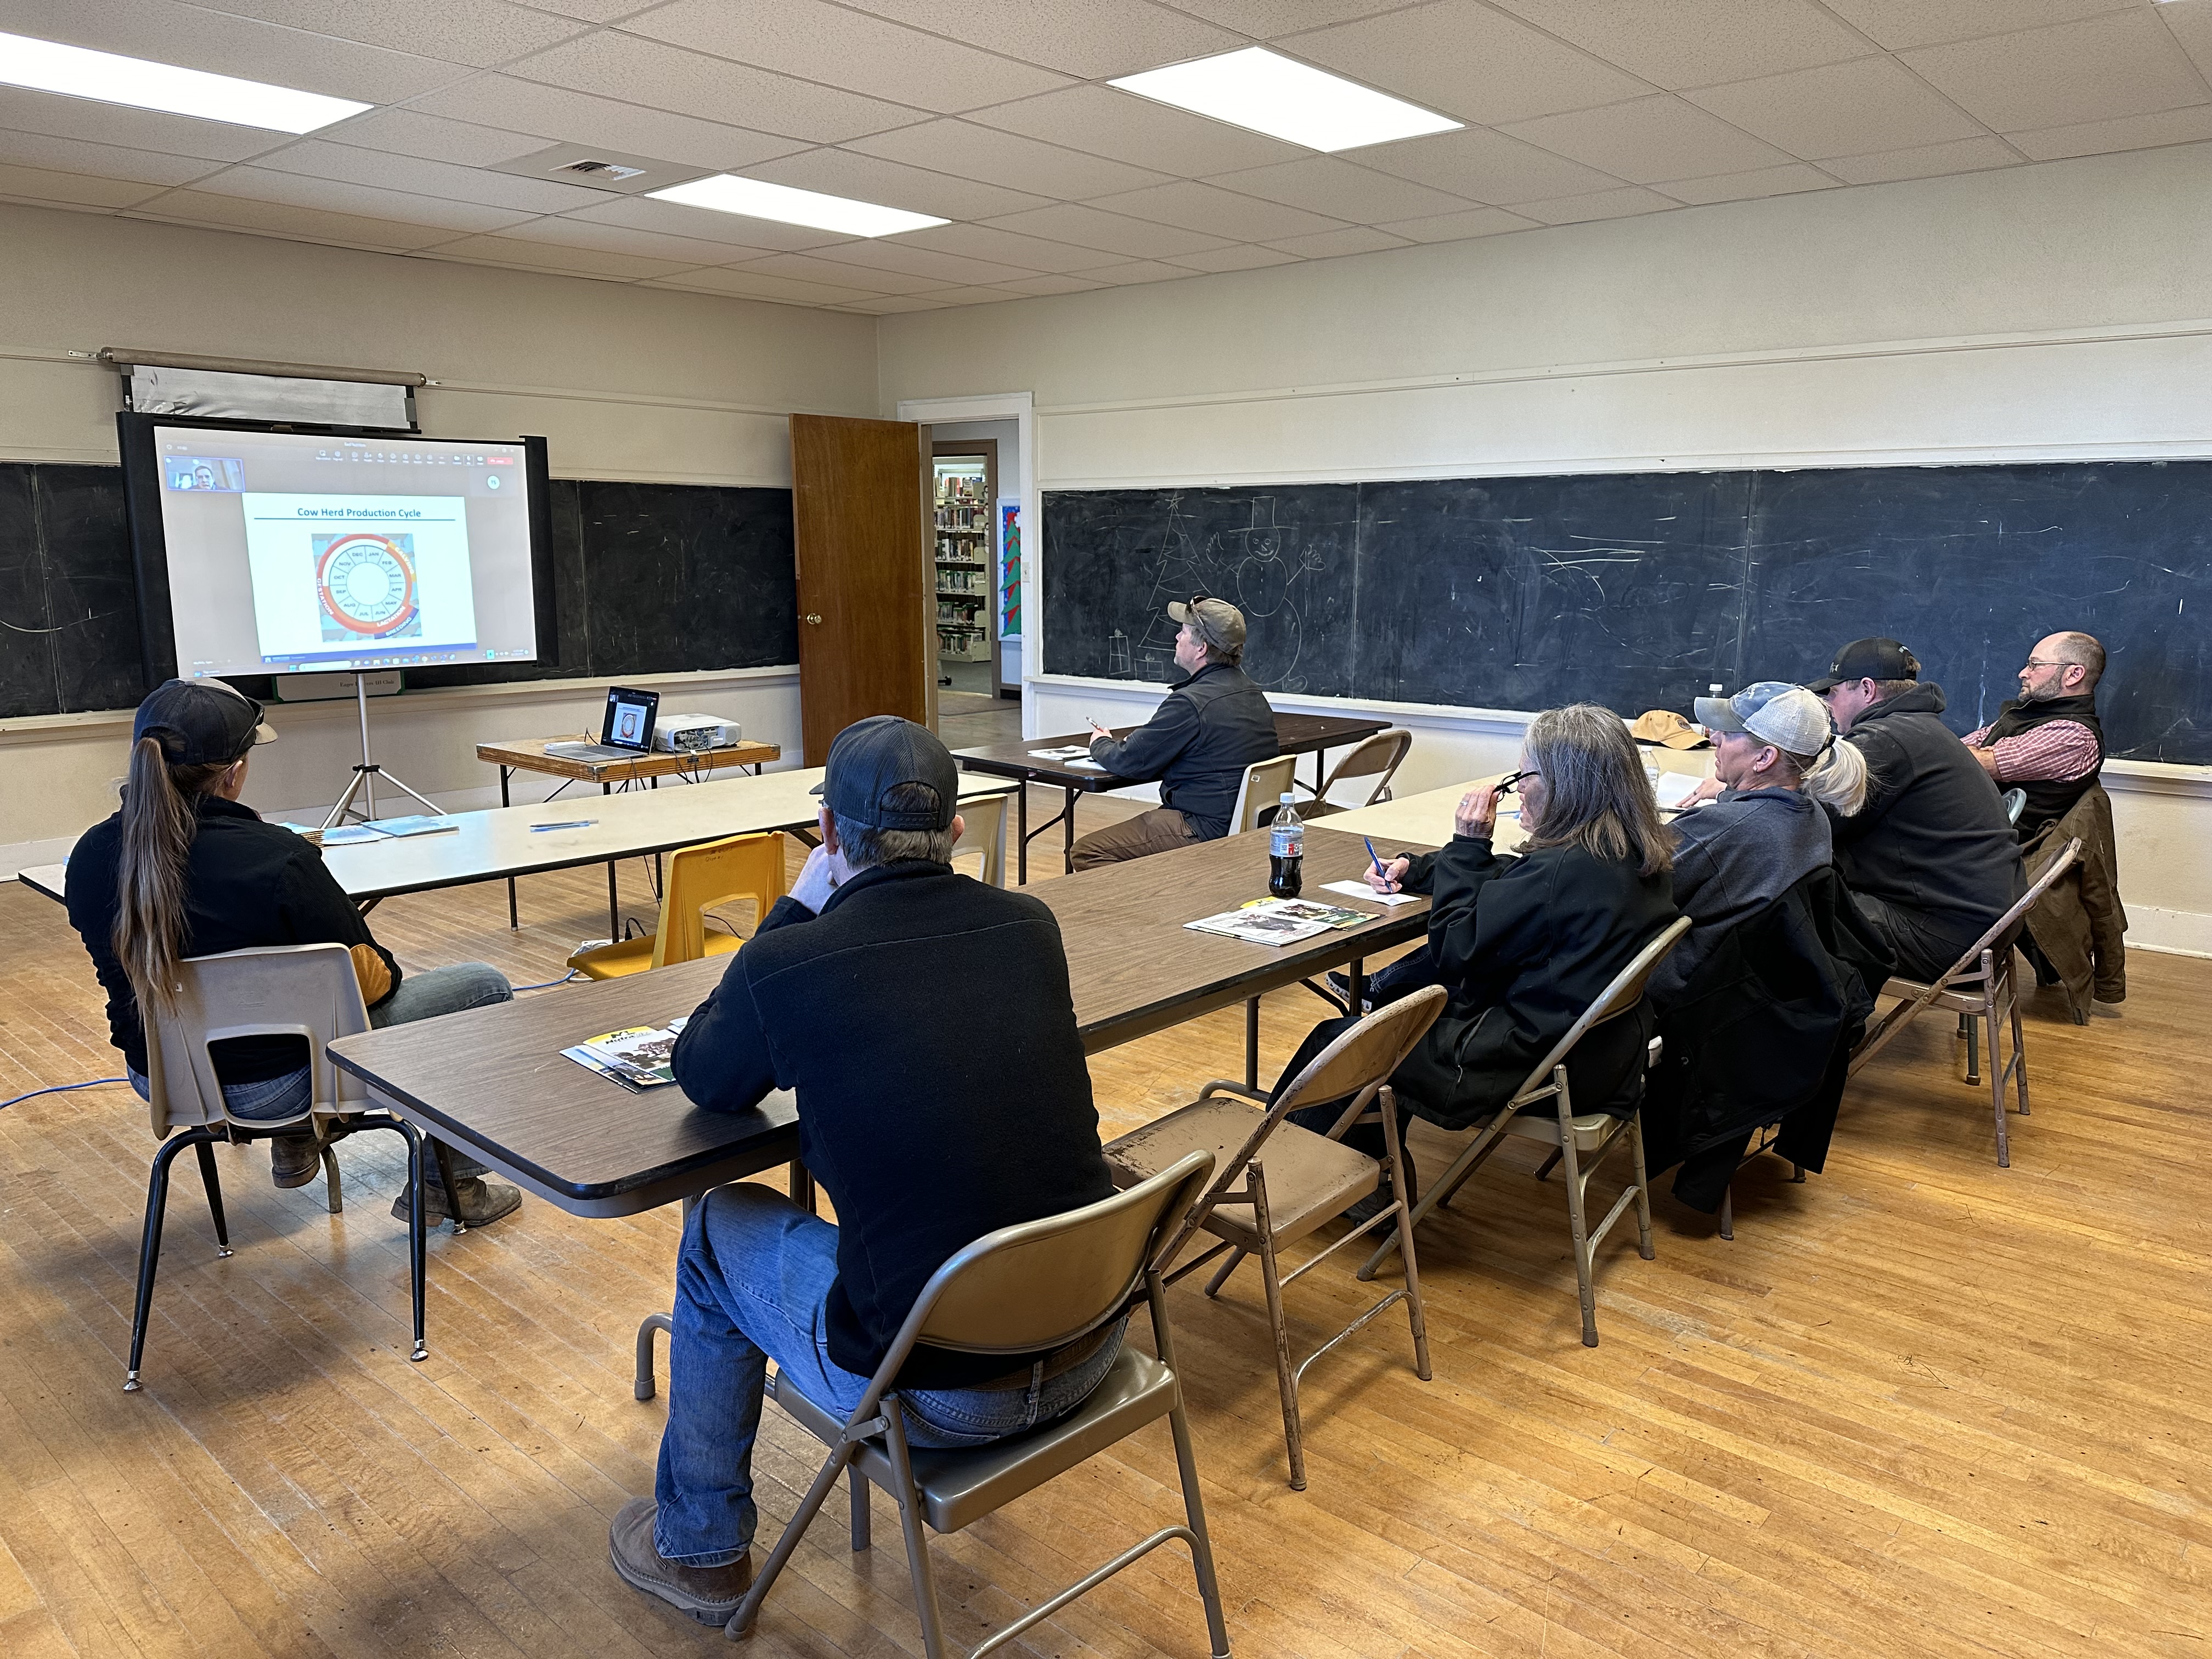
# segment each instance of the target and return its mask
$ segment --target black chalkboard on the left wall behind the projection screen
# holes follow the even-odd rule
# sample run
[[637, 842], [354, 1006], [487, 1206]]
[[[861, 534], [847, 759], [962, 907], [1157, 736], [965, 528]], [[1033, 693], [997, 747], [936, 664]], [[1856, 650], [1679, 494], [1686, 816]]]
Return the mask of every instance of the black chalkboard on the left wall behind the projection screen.
[[[551, 529], [557, 655], [409, 668], [409, 688], [799, 661], [787, 489], [555, 478]], [[146, 644], [168, 672], [173, 641]], [[144, 695], [122, 469], [0, 462], [0, 719]]]

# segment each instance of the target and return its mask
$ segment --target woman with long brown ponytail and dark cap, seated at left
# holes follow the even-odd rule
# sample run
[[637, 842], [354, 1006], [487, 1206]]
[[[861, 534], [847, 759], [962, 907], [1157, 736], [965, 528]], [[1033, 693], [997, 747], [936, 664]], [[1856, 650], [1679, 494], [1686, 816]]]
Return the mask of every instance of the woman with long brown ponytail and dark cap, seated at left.
[[[108, 993], [108, 1042], [131, 1086], [146, 1082], [146, 1020], [177, 1006], [177, 962], [268, 945], [345, 945], [369, 1020], [427, 1020], [513, 995], [482, 962], [407, 975], [380, 947], [319, 847], [239, 803], [248, 757], [274, 739], [261, 703], [219, 679], [173, 679], [139, 703], [122, 805], [69, 856], [69, 920]], [[223, 1106], [239, 1119], [288, 1119], [307, 1108], [312, 1077], [299, 1037], [232, 1037], [210, 1046]], [[522, 1203], [482, 1181], [482, 1164], [449, 1155], [462, 1221], [482, 1225]], [[270, 1144], [276, 1186], [314, 1179], [312, 1133]], [[445, 1190], [431, 1188], [434, 1214]], [[407, 1194], [394, 1206], [407, 1217]]]

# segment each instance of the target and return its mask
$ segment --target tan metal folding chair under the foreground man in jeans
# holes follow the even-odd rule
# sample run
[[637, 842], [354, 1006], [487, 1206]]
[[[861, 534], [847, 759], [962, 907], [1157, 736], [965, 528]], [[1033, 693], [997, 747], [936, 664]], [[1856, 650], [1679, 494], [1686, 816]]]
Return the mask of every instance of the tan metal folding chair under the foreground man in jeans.
[[[1192, 1152], [1150, 1181], [1110, 1199], [1044, 1221], [1000, 1228], [958, 1252], [929, 1276], [922, 1294], [914, 1298], [907, 1323], [900, 1325], [889, 1354], [883, 1356], [883, 1365], [876, 1367], [876, 1376], [852, 1416], [838, 1418], [834, 1411], [825, 1411], [779, 1371], [770, 1385], [770, 1398], [830, 1447], [830, 1458], [814, 1475], [814, 1484], [799, 1502], [783, 1537], [776, 1540], [776, 1548], [752, 1582], [752, 1590], [730, 1615], [728, 1635], [732, 1639], [752, 1635], [761, 1599], [783, 1573], [783, 1564], [790, 1562], [814, 1515], [821, 1513], [830, 1486], [849, 1467], [852, 1546], [854, 1551], [869, 1546], [867, 1489], [869, 1484], [883, 1486], [898, 1502], [898, 1522], [907, 1540], [907, 1568], [914, 1575], [914, 1604], [922, 1619], [922, 1652], [927, 1659], [942, 1659], [945, 1628], [938, 1619], [938, 1593], [929, 1571], [929, 1537], [922, 1522], [940, 1533], [958, 1533], [1126, 1440], [1144, 1425], [1168, 1418], [1188, 1524], [1161, 1526], [1121, 1551], [1088, 1577], [993, 1632], [969, 1659], [982, 1659], [1042, 1619], [1051, 1619], [1075, 1597], [1095, 1590], [1124, 1566], [1175, 1537], [1190, 1546], [1214, 1659], [1228, 1659], [1230, 1637], [1221, 1619], [1221, 1590], [1214, 1584], [1206, 1509], [1199, 1502], [1199, 1464], [1190, 1449], [1190, 1425], [1183, 1420], [1183, 1394], [1175, 1374], [1175, 1338], [1168, 1332], [1168, 1296], [1159, 1283], [1157, 1265], [1161, 1241], [1190, 1210], [1212, 1166], [1208, 1155]], [[1035, 1354], [1064, 1347], [1121, 1318], [1135, 1307], [1137, 1296], [1150, 1307], [1152, 1345], [1159, 1349], [1159, 1358], [1124, 1343], [1113, 1369], [1106, 1371], [1091, 1398], [1042, 1429], [962, 1451], [907, 1444], [905, 1411], [894, 1378], [916, 1343], [960, 1354]]]

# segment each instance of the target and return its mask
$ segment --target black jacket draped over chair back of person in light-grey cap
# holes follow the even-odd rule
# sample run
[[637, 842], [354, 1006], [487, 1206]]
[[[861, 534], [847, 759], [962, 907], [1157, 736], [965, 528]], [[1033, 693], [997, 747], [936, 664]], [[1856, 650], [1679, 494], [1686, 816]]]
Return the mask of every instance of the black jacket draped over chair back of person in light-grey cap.
[[1712, 942], [1661, 1009], [1666, 1048], [1644, 1097], [1646, 1161], [1681, 1164], [1677, 1199], [1719, 1210], [1763, 1124], [1781, 1124], [1792, 1164], [1827, 1161], [1851, 1048], [1893, 967], [1827, 865]]

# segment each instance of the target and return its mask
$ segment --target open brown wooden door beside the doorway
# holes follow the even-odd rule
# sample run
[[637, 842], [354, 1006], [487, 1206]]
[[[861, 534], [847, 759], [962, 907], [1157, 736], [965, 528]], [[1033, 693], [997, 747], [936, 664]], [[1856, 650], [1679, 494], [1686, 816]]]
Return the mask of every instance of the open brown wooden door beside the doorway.
[[929, 440], [907, 420], [792, 416], [805, 763], [869, 714], [936, 730]]

